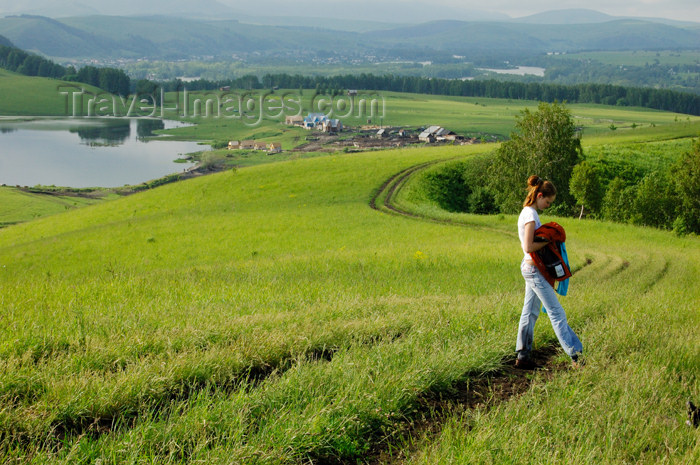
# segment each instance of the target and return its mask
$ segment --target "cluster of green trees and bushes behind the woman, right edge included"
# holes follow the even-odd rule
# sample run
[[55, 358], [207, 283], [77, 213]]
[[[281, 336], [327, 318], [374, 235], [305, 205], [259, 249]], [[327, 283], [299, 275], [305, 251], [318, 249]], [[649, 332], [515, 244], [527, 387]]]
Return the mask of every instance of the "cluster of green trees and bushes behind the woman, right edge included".
[[554, 214], [700, 234], [700, 139], [651, 169], [628, 158], [586, 157], [570, 112], [559, 104], [524, 110], [493, 154], [437, 166], [419, 191], [448, 211], [515, 214], [531, 174], [557, 187]]

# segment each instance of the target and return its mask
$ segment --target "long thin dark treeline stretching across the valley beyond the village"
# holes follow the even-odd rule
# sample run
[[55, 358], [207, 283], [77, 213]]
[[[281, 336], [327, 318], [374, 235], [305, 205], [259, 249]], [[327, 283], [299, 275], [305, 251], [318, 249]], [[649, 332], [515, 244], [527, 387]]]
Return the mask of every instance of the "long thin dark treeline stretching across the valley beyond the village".
[[459, 80], [418, 76], [377, 76], [345, 74], [340, 76], [302, 76], [299, 74], [266, 74], [262, 80], [248, 75], [220, 81], [170, 81], [162, 84], [166, 91], [187, 87], [189, 90], [213, 90], [224, 86], [232, 89], [316, 89], [339, 92], [341, 89], [384, 90], [460, 97], [535, 100], [541, 102], [599, 103], [635, 106], [700, 116], [700, 95], [667, 89], [624, 87], [611, 84], [543, 84], [500, 80]]

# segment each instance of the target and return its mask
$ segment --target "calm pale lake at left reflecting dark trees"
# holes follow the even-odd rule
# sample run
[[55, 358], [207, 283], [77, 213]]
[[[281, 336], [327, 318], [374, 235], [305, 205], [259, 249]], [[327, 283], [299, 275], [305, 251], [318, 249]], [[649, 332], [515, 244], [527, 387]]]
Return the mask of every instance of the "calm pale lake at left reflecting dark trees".
[[183, 125], [146, 118], [0, 121], [0, 184], [119, 187], [181, 172], [191, 164], [177, 158], [209, 146], [152, 137]]

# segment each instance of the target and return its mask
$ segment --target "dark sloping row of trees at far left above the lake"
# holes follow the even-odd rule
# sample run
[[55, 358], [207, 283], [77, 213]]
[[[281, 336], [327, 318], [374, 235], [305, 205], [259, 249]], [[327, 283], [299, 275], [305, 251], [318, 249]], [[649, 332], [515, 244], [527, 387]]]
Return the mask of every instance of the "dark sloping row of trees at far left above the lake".
[[82, 82], [99, 87], [112, 94], [125, 96], [131, 90], [129, 76], [120, 69], [83, 66], [76, 71], [73, 66], [64, 67], [16, 47], [0, 45], [0, 68], [25, 76], [40, 76]]

